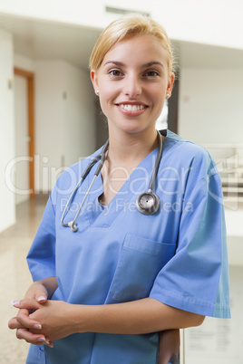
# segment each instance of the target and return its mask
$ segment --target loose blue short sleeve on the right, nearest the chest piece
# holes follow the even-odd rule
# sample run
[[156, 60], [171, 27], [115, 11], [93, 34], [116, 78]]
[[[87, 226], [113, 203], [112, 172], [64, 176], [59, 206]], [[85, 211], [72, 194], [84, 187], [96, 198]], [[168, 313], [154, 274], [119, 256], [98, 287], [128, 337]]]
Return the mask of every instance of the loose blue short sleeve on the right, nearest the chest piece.
[[190, 173], [176, 254], [158, 274], [150, 296], [185, 311], [229, 318], [228, 254], [223, 198], [215, 168]]

